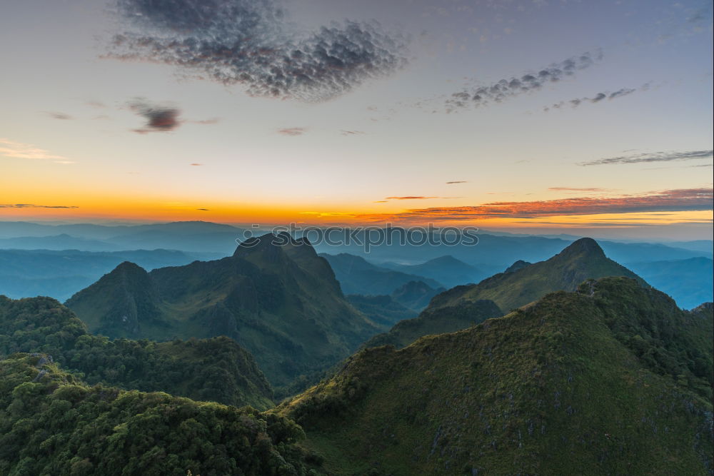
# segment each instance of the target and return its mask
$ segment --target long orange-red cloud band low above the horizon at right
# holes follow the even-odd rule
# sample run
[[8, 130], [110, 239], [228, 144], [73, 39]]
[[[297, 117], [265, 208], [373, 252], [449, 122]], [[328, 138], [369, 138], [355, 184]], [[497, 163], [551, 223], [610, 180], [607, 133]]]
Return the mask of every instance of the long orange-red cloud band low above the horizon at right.
[[600, 213], [712, 210], [711, 188], [685, 188], [641, 195], [491, 202], [477, 206], [411, 209], [390, 215], [363, 215], [372, 221], [473, 221], [487, 218], [545, 218]]

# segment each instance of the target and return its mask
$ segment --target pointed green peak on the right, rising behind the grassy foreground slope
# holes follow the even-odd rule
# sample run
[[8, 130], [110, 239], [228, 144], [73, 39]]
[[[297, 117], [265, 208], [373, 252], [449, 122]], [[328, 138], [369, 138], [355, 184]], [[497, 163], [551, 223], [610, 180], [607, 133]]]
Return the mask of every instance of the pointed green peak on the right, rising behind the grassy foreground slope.
[[575, 241], [549, 260], [525, 264], [516, 265], [515, 270], [511, 266], [508, 272], [493, 275], [481, 283], [457, 286], [441, 293], [433, 298], [428, 309], [457, 305], [462, 300], [490, 299], [508, 312], [547, 293], [573, 291], [586, 279], [606, 276], [626, 276], [646, 285], [638, 275], [608, 259], [592, 238]]

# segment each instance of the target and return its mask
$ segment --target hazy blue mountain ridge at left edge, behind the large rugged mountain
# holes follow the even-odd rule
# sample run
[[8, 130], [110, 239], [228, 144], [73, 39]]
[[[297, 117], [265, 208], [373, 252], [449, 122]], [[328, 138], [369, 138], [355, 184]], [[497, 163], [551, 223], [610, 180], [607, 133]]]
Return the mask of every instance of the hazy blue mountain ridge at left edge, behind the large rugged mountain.
[[219, 256], [176, 250], [99, 253], [77, 250], [0, 250], [0, 294], [11, 298], [44, 295], [66, 300], [123, 261], [131, 261], [152, 270]]

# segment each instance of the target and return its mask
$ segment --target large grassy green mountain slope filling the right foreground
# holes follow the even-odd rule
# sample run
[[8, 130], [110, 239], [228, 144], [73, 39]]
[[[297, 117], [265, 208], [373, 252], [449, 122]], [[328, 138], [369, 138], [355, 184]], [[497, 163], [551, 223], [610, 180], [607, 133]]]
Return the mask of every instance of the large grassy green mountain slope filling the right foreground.
[[712, 320], [628, 278], [363, 350], [275, 411], [335, 475], [709, 475]]

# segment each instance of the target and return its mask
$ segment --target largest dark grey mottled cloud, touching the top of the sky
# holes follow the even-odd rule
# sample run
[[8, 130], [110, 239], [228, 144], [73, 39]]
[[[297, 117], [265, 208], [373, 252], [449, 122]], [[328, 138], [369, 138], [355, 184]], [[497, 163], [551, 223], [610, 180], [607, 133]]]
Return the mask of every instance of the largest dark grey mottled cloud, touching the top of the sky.
[[251, 96], [321, 101], [406, 64], [406, 41], [376, 22], [294, 31], [273, 0], [116, 0], [129, 31], [107, 56], [150, 60]]

